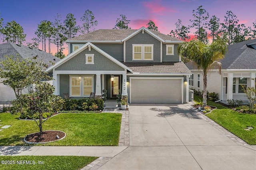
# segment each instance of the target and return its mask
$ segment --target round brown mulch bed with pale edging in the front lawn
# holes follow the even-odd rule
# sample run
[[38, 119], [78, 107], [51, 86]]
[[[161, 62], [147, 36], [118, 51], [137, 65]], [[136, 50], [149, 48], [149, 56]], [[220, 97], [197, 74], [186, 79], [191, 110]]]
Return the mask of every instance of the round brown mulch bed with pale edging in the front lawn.
[[[57, 138], [56, 136], [60, 138]], [[52, 142], [57, 141], [65, 136], [65, 133], [62, 131], [43, 131], [43, 134], [40, 135], [39, 132], [32, 133], [25, 137], [25, 141], [33, 142], [33, 143], [44, 143], [44, 142]]]

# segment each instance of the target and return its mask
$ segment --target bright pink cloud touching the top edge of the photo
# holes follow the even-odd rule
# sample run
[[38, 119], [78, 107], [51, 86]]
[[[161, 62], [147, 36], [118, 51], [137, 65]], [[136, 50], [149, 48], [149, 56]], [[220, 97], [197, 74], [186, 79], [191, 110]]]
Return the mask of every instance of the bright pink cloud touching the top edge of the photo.
[[142, 5], [146, 7], [149, 13], [153, 14], [166, 15], [166, 13], [177, 12], [176, 10], [173, 10], [171, 8], [166, 8], [165, 6], [162, 6], [160, 3], [161, 0], [156, 0], [152, 2], [142, 2]]

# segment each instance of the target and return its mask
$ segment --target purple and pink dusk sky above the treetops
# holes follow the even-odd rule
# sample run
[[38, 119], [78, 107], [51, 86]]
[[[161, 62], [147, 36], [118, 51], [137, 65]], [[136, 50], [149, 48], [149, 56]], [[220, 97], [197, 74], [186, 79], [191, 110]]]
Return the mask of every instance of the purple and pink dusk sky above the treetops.
[[[16, 21], [24, 28], [26, 42], [32, 42], [40, 21], [53, 22], [57, 14], [64, 21], [66, 15], [72, 13], [78, 25], [82, 25], [80, 18], [86, 10], [90, 10], [98, 21], [95, 29], [112, 29], [116, 19], [124, 14], [130, 20], [131, 29], [146, 27], [152, 20], [160, 33], [168, 34], [176, 28], [178, 19], [185, 26], [191, 25], [192, 10], [201, 5], [210, 17], [215, 15], [220, 18], [220, 22], [224, 21], [227, 11], [232, 11], [239, 23], [244, 23], [246, 27], [252, 27], [256, 20], [256, 0], [0, 0], [0, 13], [4, 24]], [[194, 29], [190, 31], [194, 33]], [[56, 53], [54, 45], [51, 51]], [[68, 53], [67, 48], [64, 53]]]

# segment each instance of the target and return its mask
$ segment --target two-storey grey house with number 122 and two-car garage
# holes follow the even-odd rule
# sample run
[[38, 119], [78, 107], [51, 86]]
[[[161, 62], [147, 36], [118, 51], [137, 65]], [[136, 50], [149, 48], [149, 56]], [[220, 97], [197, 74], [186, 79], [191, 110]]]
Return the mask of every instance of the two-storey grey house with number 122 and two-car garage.
[[55, 94], [84, 98], [102, 90], [130, 103], [186, 103], [190, 70], [177, 48], [182, 41], [142, 27], [99, 29], [66, 41], [69, 55], [48, 68]]

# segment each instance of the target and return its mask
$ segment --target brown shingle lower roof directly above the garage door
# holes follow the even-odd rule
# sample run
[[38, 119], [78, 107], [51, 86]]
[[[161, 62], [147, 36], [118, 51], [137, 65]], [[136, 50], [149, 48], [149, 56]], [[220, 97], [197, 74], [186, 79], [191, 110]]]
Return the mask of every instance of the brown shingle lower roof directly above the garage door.
[[139, 73], [172, 73], [172, 74], [191, 74], [190, 70], [183, 62], [162, 62], [162, 63], [124, 63]]

